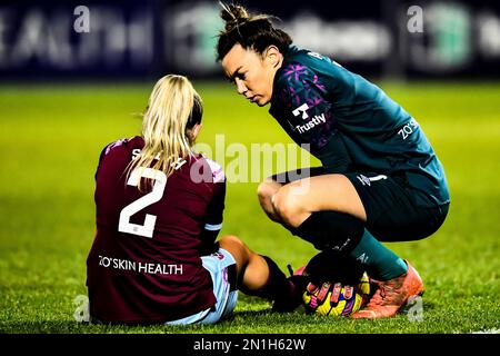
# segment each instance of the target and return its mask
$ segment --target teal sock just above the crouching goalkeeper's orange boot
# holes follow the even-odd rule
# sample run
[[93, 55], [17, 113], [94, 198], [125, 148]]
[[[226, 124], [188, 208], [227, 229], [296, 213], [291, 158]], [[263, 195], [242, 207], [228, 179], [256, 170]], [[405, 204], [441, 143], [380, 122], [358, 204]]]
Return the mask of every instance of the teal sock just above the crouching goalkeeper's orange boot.
[[364, 229], [350, 256], [361, 263], [373, 279], [389, 280], [407, 273], [407, 264]]

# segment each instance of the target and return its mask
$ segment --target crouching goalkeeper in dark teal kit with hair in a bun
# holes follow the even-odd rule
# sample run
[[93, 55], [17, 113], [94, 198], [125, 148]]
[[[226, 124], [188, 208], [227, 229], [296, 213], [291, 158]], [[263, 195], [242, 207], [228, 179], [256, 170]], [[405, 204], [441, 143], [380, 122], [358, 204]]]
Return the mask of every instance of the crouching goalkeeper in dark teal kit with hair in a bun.
[[373, 83], [293, 46], [270, 16], [222, 7], [217, 50], [226, 76], [250, 102], [270, 103], [284, 131], [322, 164], [303, 179], [283, 174], [262, 182], [263, 210], [316, 248], [363, 266], [379, 288], [353, 318], [394, 315], [423, 293], [423, 283], [380, 241], [428, 237], [448, 212], [444, 171], [431, 145], [416, 119]]

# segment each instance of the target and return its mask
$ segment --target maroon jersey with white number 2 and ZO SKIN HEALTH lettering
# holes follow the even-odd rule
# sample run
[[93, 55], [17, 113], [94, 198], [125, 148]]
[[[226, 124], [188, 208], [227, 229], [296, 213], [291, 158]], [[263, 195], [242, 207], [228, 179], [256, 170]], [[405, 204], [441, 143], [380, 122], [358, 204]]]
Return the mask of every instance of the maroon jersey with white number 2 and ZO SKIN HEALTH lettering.
[[[104, 148], [96, 172], [97, 234], [87, 258], [90, 315], [103, 323], [174, 320], [216, 304], [200, 256], [222, 224], [226, 179], [200, 155], [176, 171], [127, 167], [141, 137]], [[139, 179], [153, 185], [138, 188]]]

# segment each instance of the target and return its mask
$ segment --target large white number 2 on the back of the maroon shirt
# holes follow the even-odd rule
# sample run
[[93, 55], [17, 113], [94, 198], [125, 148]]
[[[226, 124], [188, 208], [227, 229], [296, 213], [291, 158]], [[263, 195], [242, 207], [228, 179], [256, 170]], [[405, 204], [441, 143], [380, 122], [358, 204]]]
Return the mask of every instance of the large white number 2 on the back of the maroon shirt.
[[132, 201], [121, 210], [118, 230], [120, 233], [152, 238], [154, 224], [157, 222], [154, 215], [147, 214], [143, 225], [130, 222], [130, 217], [161, 199], [167, 185], [167, 175], [158, 169], [138, 167], [130, 174], [127, 185], [137, 187], [141, 178], [154, 179], [153, 188], [146, 196]]

